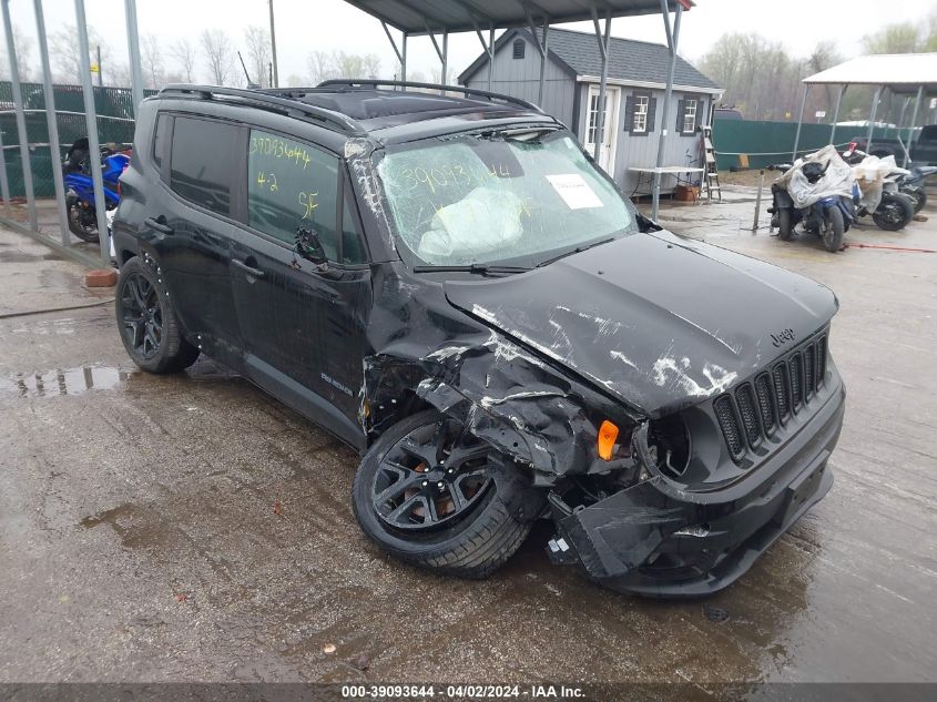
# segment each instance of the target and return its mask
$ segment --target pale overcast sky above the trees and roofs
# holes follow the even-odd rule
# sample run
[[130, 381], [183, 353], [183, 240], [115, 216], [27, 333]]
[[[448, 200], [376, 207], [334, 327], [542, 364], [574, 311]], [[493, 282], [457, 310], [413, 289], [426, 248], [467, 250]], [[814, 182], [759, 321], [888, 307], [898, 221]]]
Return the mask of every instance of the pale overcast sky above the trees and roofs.
[[[13, 24], [33, 38], [34, 47], [32, 6], [33, 0], [10, 0]], [[819, 41], [833, 39], [844, 57], [853, 57], [860, 52], [864, 33], [890, 22], [923, 21], [935, 6], [937, 0], [696, 0], [696, 7], [683, 16], [679, 50], [681, 55], [693, 60], [703, 55], [724, 32], [737, 31], [757, 32], [781, 41], [794, 57], [808, 55]], [[123, 7], [122, 0], [85, 0], [89, 24], [101, 35], [113, 39], [111, 51], [115, 60], [125, 62]], [[181, 37], [197, 43], [203, 29], [218, 28], [243, 50], [244, 28], [267, 27], [269, 22], [267, 0], [136, 0], [136, 7], [141, 34], [153, 34], [166, 45]], [[43, 0], [43, 8], [49, 32], [75, 22], [73, 0]], [[281, 83], [291, 74], [306, 74], [306, 57], [313, 50], [376, 53], [384, 75], [389, 77], [397, 69], [396, 55], [380, 22], [343, 0], [274, 0], [274, 8]], [[564, 27], [592, 31], [591, 22]], [[666, 41], [659, 14], [612, 20], [612, 34]], [[449, 82], [455, 82], [452, 77], [480, 52], [475, 33], [450, 37]], [[35, 49], [32, 58], [38, 63]], [[164, 61], [167, 69], [173, 68], [169, 55]], [[415, 38], [408, 42], [410, 71], [429, 77], [438, 67], [428, 39]]]

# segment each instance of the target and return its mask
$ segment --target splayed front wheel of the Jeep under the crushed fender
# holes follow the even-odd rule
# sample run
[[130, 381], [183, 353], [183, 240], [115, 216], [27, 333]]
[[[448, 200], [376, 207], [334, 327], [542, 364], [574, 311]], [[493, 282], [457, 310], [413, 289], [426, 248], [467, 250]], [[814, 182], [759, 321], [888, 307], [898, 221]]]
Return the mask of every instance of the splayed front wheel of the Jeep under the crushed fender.
[[[375, 441], [352, 488], [355, 517], [383, 551], [458, 578], [485, 578], [530, 532], [523, 474], [436, 409]], [[521, 512], [521, 513], [518, 513]]]

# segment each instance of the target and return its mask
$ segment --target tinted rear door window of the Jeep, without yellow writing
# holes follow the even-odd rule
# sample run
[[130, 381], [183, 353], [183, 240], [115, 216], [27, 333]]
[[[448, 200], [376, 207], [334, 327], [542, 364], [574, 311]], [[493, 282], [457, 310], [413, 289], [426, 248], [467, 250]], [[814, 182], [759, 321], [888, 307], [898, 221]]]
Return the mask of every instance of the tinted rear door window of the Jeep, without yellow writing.
[[176, 116], [170, 187], [196, 205], [230, 215], [236, 149], [236, 126]]

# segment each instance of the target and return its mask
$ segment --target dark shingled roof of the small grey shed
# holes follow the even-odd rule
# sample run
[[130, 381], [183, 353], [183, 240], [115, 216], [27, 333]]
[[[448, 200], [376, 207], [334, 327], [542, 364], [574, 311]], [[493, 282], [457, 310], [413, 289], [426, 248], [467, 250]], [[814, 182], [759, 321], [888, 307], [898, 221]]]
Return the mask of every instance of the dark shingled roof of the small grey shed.
[[[529, 41], [534, 41], [530, 31], [521, 29], [505, 33], [496, 42], [496, 45], [503, 45], [506, 41], [510, 41], [515, 35], [522, 35]], [[541, 35], [542, 32], [538, 28], [538, 39]], [[550, 28], [547, 31], [547, 48], [553, 59], [559, 59], [576, 75], [598, 77], [602, 72], [602, 57], [599, 53], [599, 43], [594, 33]], [[482, 65], [487, 65], [485, 53], [459, 75], [459, 81], [465, 83]], [[618, 37], [610, 38], [610, 79], [664, 85], [666, 84], [669, 69], [670, 50], [664, 44], [635, 41], [633, 39], [620, 39]], [[680, 57], [676, 58], [673, 83], [674, 85], [700, 88], [710, 91], [720, 90], [719, 85]]]

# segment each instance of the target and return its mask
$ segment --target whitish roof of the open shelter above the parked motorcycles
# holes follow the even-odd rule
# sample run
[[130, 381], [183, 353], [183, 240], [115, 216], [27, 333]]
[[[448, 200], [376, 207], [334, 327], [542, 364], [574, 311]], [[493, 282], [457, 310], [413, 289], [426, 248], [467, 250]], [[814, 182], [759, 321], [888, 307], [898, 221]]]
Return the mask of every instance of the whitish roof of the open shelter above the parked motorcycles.
[[804, 79], [805, 83], [888, 85], [914, 92], [918, 85], [937, 88], [937, 53], [883, 53], [856, 57]]

